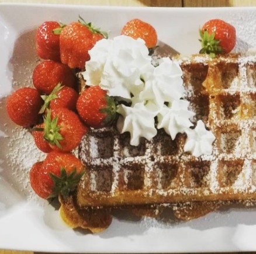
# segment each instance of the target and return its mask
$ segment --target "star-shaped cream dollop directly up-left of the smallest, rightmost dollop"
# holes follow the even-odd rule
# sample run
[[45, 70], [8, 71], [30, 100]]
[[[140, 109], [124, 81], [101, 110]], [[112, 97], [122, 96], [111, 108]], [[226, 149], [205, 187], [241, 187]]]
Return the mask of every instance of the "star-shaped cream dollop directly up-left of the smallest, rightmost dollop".
[[164, 105], [158, 113], [157, 128], [164, 128], [165, 132], [174, 140], [178, 133], [184, 133], [193, 126], [189, 118], [195, 113], [188, 110], [189, 102], [187, 100], [174, 100], [170, 104], [170, 106]]

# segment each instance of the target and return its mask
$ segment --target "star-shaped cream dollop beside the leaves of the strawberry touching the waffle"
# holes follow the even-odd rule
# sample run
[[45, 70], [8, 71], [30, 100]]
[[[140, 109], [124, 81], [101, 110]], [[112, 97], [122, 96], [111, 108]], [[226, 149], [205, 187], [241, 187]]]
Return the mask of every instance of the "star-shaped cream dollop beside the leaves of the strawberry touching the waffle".
[[117, 120], [117, 130], [120, 133], [130, 133], [130, 144], [137, 146], [140, 137], [151, 140], [156, 134], [154, 105], [136, 103], [133, 107], [119, 105], [117, 112], [121, 115]]

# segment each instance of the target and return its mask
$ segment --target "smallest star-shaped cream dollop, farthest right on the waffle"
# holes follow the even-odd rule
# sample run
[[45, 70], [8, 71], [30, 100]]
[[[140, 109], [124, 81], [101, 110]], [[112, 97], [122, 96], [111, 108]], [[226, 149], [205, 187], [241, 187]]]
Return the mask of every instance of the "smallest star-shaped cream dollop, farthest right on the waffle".
[[191, 152], [193, 156], [212, 154], [212, 143], [215, 141], [215, 135], [212, 131], [207, 131], [205, 124], [199, 120], [196, 127], [186, 130], [187, 139], [184, 145], [185, 152]]

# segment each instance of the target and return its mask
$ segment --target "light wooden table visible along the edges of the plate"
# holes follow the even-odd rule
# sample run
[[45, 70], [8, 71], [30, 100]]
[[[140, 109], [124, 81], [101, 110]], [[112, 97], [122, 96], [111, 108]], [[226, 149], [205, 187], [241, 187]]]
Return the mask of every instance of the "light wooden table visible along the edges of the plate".
[[[79, 4], [112, 6], [217, 7], [256, 6], [255, 0], [9, 0], [10, 3]], [[0, 254], [33, 254], [39, 252], [0, 250]], [[256, 252], [255, 252], [256, 253]]]

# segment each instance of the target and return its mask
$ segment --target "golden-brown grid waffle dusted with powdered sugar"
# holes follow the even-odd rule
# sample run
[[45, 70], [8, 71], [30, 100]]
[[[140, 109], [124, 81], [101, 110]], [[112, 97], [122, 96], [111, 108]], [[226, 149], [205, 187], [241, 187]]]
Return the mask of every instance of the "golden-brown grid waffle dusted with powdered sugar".
[[178, 60], [186, 99], [216, 137], [212, 155], [184, 152], [185, 134], [174, 141], [163, 130], [150, 141], [129, 144], [115, 127], [93, 129], [81, 141], [86, 166], [75, 199], [79, 208], [129, 207], [155, 215], [168, 207], [190, 220], [227, 202], [256, 199], [256, 57], [193, 55]]

